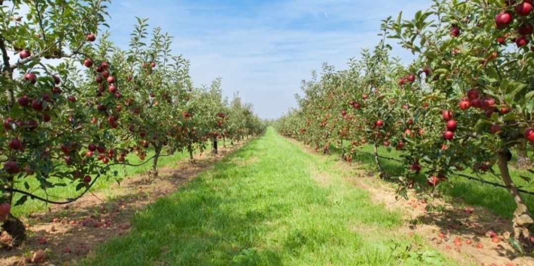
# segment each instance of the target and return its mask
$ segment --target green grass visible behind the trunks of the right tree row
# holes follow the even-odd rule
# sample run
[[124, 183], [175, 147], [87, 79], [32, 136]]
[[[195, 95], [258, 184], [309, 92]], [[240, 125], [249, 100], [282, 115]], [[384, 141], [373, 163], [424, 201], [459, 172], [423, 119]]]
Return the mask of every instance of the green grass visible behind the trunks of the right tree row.
[[[362, 146], [359, 151], [372, 153], [373, 146], [371, 145]], [[400, 154], [402, 153], [396, 150], [391, 150], [391, 152], [388, 152], [385, 147], [379, 147], [379, 154], [387, 156], [387, 157], [400, 159]], [[359, 163], [363, 163], [367, 169], [376, 168], [376, 163], [374, 162], [374, 158], [370, 154], [357, 153], [357, 155], [353, 157], [352, 159]], [[514, 156], [514, 160], [515, 160], [515, 156]], [[402, 173], [406, 167], [402, 163], [392, 161], [392, 160], [380, 159], [380, 162], [381, 162], [382, 168], [386, 171], [386, 173], [390, 173], [390, 174], [391, 173]], [[499, 172], [497, 166], [494, 166], [494, 170], [497, 173]], [[466, 169], [459, 173], [464, 174], [464, 175], [476, 176], [476, 174], [474, 174], [473, 171], [470, 169]], [[528, 182], [524, 181], [520, 177], [520, 175], [531, 176], [532, 179], [534, 179], [534, 176], [532, 176], [531, 173], [525, 170], [515, 169], [511, 167], [510, 174], [512, 176], [514, 183], [517, 186], [521, 186], [525, 190], [534, 191], [534, 185], [529, 184]], [[496, 178], [490, 174], [483, 174], [483, 175], [480, 175], [480, 177], [487, 181], [497, 182], [497, 183], [502, 184], [502, 181], [499, 178]], [[420, 175], [418, 179], [423, 186], [426, 186], [425, 176]], [[508, 193], [508, 191], [506, 191], [506, 189], [502, 187], [496, 187], [496, 186], [492, 186], [488, 184], [483, 184], [481, 182], [471, 181], [469, 179], [466, 179], [465, 177], [459, 177], [459, 176], [454, 176], [454, 175], [450, 176], [449, 182], [441, 183], [440, 185], [438, 185], [437, 190], [446, 197], [461, 198], [465, 204], [474, 205], [474, 206], [482, 206], [482, 207], [488, 208], [492, 213], [499, 215], [501, 217], [504, 217], [504, 218], [512, 218], [513, 213], [516, 208], [516, 205], [515, 205], [515, 202], [512, 196], [510, 195], [510, 193]], [[527, 203], [528, 208], [530, 210], [534, 210], [534, 195], [523, 193], [522, 197]]]

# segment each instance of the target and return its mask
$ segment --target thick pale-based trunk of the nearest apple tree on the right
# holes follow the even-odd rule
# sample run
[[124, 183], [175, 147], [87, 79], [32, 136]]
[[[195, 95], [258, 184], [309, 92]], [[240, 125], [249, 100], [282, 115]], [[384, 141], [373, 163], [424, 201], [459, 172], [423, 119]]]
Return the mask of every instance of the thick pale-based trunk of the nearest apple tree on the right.
[[514, 212], [514, 218], [512, 220], [513, 222], [513, 237], [517, 240], [520, 240], [521, 242], [528, 243], [529, 242], [529, 226], [534, 224], [534, 220], [532, 220], [532, 216], [530, 215], [527, 205], [521, 198], [521, 195], [517, 191], [517, 187], [512, 181], [512, 178], [510, 177], [510, 173], [508, 172], [508, 157], [507, 157], [508, 150], [501, 150], [497, 155], [499, 158], [499, 161], [497, 162], [499, 166], [499, 171], [501, 174], [502, 181], [506, 185], [506, 188], [508, 189], [508, 192], [512, 194], [512, 197], [514, 198], [515, 204], [517, 205], [515, 212]]

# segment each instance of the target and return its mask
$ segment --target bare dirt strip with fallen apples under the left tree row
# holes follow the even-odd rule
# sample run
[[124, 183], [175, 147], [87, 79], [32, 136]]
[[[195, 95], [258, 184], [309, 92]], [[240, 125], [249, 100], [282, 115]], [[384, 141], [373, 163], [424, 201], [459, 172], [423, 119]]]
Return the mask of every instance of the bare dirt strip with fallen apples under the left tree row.
[[0, 265], [25, 265], [39, 249], [45, 251], [46, 263], [74, 264], [102, 242], [128, 233], [131, 218], [138, 210], [213, 168], [215, 161], [244, 143], [220, 147], [218, 154], [196, 154], [194, 163], [184, 159], [177, 166], [162, 167], [159, 178], [151, 182], [147, 182], [146, 174], [131, 176], [120, 185], [85, 194], [67, 205], [51, 206], [49, 212], [33, 214], [23, 219], [28, 241], [11, 251], [0, 251]]

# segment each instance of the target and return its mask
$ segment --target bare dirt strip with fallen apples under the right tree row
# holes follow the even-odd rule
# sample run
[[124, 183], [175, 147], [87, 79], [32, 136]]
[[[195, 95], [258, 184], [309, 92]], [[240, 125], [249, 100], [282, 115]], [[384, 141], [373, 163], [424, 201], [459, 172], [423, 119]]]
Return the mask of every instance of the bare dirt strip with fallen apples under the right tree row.
[[[288, 140], [307, 152], [319, 154], [294, 139]], [[438, 196], [427, 199], [418, 197], [412, 190], [409, 191], [409, 200], [397, 199], [391, 184], [380, 180], [377, 173], [370, 172], [357, 162], [347, 163], [340, 158], [335, 167], [352, 184], [370, 192], [373, 202], [405, 214], [405, 223], [398, 235], [413, 237], [417, 234], [461, 265], [534, 265], [534, 258], [519, 256], [508, 244], [507, 239], [512, 232], [511, 220], [493, 215], [482, 207], [464, 205], [461, 198], [454, 198], [454, 202], [446, 202]], [[322, 180], [324, 178], [328, 176], [316, 179], [320, 184], [328, 184], [328, 181]]]

